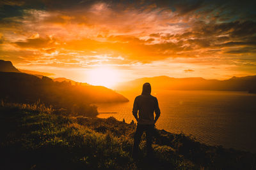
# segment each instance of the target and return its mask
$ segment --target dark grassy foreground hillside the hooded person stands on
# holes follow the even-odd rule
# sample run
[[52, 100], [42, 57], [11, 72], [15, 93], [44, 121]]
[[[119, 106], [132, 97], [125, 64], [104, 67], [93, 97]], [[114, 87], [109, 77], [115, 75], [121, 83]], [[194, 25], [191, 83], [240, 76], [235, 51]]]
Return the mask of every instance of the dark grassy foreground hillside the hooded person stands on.
[[154, 160], [130, 158], [136, 125], [54, 115], [43, 104], [0, 104], [0, 169], [255, 169], [255, 154], [157, 130]]

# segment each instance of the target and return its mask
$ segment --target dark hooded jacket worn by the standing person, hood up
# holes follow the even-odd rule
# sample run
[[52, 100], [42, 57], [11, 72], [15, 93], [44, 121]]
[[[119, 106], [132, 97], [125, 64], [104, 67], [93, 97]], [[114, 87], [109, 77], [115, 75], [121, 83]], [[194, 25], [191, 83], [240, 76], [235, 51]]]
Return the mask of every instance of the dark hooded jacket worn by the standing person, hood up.
[[[154, 112], [156, 113], [156, 120], [160, 116], [157, 98], [150, 95], [150, 83], [145, 83], [142, 88], [142, 93], [134, 100], [132, 114], [138, 121], [138, 124], [151, 125], [155, 124]], [[139, 117], [138, 117], [139, 111]]]

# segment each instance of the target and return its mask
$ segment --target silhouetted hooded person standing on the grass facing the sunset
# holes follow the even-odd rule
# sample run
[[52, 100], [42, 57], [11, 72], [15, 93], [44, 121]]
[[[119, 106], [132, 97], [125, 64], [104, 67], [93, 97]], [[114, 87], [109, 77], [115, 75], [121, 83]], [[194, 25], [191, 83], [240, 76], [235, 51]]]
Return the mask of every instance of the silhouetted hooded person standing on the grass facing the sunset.
[[[152, 157], [152, 134], [154, 133], [154, 127], [157, 119], [160, 116], [160, 110], [157, 102], [157, 98], [150, 95], [151, 86], [150, 83], [143, 85], [142, 93], [134, 100], [132, 114], [136, 118], [138, 125], [134, 134], [134, 144], [132, 148], [132, 157], [136, 159], [138, 157], [139, 144], [141, 135], [146, 132], [147, 136], [147, 156]], [[139, 117], [138, 117], [139, 110]], [[154, 111], [156, 117], [154, 117]]]

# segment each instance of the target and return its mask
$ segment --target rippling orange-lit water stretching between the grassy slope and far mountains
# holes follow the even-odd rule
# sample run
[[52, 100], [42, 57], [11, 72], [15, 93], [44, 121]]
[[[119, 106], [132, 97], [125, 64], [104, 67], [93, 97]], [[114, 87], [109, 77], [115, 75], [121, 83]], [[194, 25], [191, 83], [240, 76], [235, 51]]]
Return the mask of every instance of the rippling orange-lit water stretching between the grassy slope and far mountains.
[[[97, 104], [100, 118], [130, 123], [134, 98], [128, 103]], [[157, 129], [191, 135], [207, 145], [222, 145], [256, 153], [256, 94], [221, 91], [163, 91], [153, 93], [161, 116]], [[116, 112], [116, 113], [106, 113]]]

